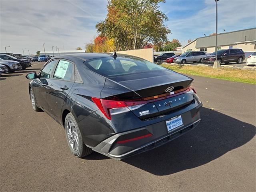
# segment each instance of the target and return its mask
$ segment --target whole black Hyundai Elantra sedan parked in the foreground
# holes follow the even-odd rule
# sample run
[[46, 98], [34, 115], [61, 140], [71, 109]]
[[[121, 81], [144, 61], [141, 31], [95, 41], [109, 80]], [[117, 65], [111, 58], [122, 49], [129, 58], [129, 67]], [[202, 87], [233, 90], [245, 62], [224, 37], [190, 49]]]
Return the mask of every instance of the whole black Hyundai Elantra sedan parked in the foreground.
[[192, 78], [123, 54], [72, 54], [26, 76], [33, 109], [64, 126], [77, 157], [115, 159], [156, 148], [192, 130], [202, 103]]

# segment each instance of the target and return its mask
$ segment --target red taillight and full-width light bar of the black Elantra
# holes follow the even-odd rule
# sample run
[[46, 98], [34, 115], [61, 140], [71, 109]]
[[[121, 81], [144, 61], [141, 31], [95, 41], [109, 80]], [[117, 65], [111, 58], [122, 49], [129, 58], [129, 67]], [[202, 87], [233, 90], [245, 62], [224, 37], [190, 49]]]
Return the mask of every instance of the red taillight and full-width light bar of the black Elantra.
[[141, 98], [136, 100], [116, 101], [116, 100], [106, 100], [106, 99], [92, 97], [92, 101], [96, 104], [96, 106], [104, 114], [104, 116], [106, 116], [106, 118], [111, 120], [111, 115], [136, 110], [147, 103], [177, 96], [185, 92], [188, 92], [190, 90], [193, 90], [196, 93], [194, 88], [188, 87], [188, 88], [174, 91], [172, 94], [168, 93], [168, 95], [162, 94], [158, 96], [152, 96], [152, 97]]

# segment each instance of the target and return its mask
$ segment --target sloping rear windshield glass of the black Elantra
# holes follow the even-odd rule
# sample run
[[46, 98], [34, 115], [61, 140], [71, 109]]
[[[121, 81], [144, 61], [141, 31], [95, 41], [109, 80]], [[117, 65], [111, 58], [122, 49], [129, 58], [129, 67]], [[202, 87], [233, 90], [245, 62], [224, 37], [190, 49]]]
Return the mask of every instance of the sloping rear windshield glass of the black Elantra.
[[166, 70], [157, 64], [141, 58], [127, 57], [105, 57], [88, 60], [85, 62], [90, 70], [106, 77], [149, 72], [154, 70]]

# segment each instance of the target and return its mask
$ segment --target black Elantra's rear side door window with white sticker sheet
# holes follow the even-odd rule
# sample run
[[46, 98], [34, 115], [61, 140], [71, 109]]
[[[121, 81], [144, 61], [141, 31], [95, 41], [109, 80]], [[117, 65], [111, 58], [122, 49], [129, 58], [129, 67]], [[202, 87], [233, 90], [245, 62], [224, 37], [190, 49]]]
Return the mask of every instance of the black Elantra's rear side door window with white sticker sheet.
[[74, 81], [74, 64], [66, 60], [60, 60], [53, 78]]

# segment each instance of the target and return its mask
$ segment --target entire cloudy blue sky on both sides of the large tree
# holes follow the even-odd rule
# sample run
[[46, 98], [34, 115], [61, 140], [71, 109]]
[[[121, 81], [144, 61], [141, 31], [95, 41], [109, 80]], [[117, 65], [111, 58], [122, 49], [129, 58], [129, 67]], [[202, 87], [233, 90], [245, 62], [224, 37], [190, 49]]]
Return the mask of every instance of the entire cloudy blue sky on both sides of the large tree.
[[[0, 52], [35, 54], [57, 46], [60, 50], [84, 48], [97, 33], [95, 25], [106, 17], [107, 0], [0, 0]], [[220, 0], [218, 32], [256, 26], [255, 0]], [[215, 32], [214, 0], [166, 0], [160, 4], [176, 38], [188, 39]], [[22, 53], [23, 54], [23, 53]]]

